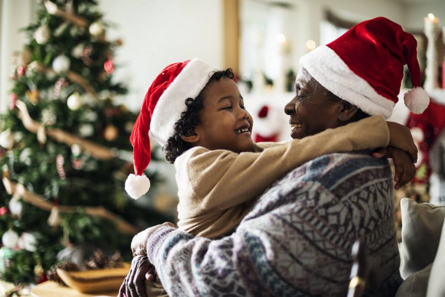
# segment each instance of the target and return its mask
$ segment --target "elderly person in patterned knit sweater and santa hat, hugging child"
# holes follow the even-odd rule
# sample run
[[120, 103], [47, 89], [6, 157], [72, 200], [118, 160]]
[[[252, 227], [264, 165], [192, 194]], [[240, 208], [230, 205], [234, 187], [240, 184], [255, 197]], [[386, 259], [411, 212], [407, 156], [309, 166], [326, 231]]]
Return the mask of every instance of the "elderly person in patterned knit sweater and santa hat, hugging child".
[[[305, 55], [295, 97], [285, 106], [292, 138], [368, 115], [389, 117], [403, 64], [419, 86], [416, 41], [385, 18], [362, 22]], [[422, 92], [414, 88], [405, 97], [412, 111], [426, 108]], [[386, 155], [398, 153], [390, 147]], [[401, 278], [392, 186], [388, 161], [370, 151], [319, 157], [266, 190], [230, 236], [195, 238], [169, 224], [136, 235], [120, 295], [144, 295], [138, 284], [148, 261], [171, 296], [345, 295], [358, 238], [381, 272], [381, 284], [367, 293], [394, 295]]]

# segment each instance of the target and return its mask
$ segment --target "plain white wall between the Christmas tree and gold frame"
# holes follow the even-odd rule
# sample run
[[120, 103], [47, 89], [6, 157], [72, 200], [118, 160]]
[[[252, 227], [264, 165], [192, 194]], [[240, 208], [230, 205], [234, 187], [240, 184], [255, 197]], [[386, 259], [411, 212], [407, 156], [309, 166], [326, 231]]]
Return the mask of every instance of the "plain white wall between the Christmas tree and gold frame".
[[200, 57], [222, 66], [222, 1], [99, 1], [104, 19], [116, 24], [107, 38], [124, 41], [114, 78], [128, 84], [130, 109], [140, 109], [151, 82], [170, 63]]

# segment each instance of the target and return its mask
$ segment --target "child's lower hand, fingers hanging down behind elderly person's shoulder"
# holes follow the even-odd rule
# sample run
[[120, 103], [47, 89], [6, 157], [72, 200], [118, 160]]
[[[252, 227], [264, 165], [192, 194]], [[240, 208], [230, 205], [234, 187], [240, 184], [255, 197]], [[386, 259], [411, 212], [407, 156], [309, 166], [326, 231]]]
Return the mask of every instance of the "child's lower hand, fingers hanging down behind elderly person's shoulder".
[[396, 190], [408, 183], [416, 174], [416, 166], [412, 161], [412, 155], [401, 149], [393, 146], [382, 147], [377, 149], [373, 154], [375, 158], [392, 158], [396, 173], [394, 174], [394, 181]]

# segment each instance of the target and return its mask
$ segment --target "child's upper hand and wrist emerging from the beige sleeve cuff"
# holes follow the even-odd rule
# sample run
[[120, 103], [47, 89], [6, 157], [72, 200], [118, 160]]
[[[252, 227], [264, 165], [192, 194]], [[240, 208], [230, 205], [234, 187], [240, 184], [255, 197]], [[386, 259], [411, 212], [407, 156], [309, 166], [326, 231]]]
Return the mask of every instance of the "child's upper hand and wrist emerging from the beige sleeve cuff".
[[387, 125], [388, 130], [390, 131], [389, 145], [408, 152], [411, 160], [416, 163], [418, 150], [414, 140], [412, 140], [412, 135], [409, 129], [394, 122], [387, 122]]

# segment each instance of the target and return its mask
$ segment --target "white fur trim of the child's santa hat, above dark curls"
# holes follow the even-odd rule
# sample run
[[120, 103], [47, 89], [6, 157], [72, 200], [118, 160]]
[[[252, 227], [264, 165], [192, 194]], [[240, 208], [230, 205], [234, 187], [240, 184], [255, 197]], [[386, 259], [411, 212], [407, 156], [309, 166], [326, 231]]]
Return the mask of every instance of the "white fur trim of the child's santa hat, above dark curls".
[[[159, 98], [153, 111], [150, 131], [153, 137], [164, 145], [174, 134], [174, 124], [180, 120], [181, 113], [187, 110], [187, 98], [195, 99], [209, 82], [212, 72], [219, 69], [195, 58], [191, 60], [173, 80]], [[209, 75], [202, 75], [208, 73]]]

